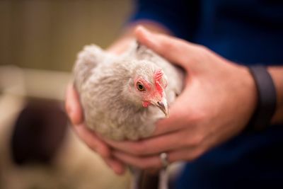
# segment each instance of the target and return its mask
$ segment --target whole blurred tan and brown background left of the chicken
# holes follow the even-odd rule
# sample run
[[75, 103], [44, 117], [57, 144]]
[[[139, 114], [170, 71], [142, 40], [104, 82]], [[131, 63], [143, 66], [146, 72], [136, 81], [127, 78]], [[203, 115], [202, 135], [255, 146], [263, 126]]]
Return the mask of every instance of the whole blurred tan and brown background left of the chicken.
[[0, 188], [127, 188], [76, 138], [64, 91], [83, 45], [107, 47], [131, 0], [0, 1]]

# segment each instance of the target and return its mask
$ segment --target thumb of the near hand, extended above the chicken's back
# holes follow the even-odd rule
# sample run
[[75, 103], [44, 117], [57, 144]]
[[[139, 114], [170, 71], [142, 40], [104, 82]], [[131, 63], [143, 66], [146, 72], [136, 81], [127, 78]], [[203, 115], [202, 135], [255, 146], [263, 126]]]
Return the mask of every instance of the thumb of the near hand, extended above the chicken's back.
[[194, 55], [196, 51], [197, 45], [195, 44], [168, 35], [151, 33], [142, 26], [138, 26], [134, 33], [141, 44], [185, 69], [190, 64], [190, 55]]

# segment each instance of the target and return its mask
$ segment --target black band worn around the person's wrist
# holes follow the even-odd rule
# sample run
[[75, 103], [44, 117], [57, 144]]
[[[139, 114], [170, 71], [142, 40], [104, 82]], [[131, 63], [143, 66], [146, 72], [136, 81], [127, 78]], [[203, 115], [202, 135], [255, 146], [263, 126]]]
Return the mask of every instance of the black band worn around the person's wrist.
[[264, 130], [276, 110], [276, 90], [272, 77], [264, 66], [250, 66], [250, 73], [255, 80], [258, 91], [258, 103], [255, 113], [250, 120], [249, 127], [253, 130]]

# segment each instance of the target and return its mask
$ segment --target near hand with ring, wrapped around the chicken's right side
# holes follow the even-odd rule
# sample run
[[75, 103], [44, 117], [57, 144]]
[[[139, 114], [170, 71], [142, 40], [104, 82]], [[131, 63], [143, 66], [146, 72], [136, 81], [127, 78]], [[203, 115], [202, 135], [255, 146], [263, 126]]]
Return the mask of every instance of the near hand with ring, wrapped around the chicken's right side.
[[120, 161], [139, 168], [160, 168], [168, 161], [192, 161], [236, 136], [247, 125], [256, 103], [256, 88], [248, 69], [201, 45], [136, 30], [136, 37], [187, 72], [183, 93], [169, 118], [157, 122], [154, 136], [139, 142], [107, 140]]

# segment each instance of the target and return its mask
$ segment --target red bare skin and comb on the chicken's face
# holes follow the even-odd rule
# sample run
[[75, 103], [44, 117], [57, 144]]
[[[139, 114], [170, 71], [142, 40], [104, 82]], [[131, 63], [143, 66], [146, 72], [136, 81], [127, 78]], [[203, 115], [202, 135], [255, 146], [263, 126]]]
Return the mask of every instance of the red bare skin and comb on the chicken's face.
[[144, 91], [139, 91], [143, 98], [142, 105], [144, 106], [144, 108], [147, 108], [149, 105], [151, 105], [152, 101], [154, 100], [161, 101], [161, 99], [163, 98], [164, 95], [163, 90], [164, 88], [166, 88], [166, 85], [163, 86], [164, 84], [162, 84], [161, 81], [162, 77], [163, 77], [163, 71], [157, 70], [154, 73], [154, 87], [151, 87], [151, 84], [149, 84], [149, 82], [144, 79], [141, 78], [135, 79], [134, 81], [135, 88], [137, 88], [138, 83], [144, 85], [145, 88]]

